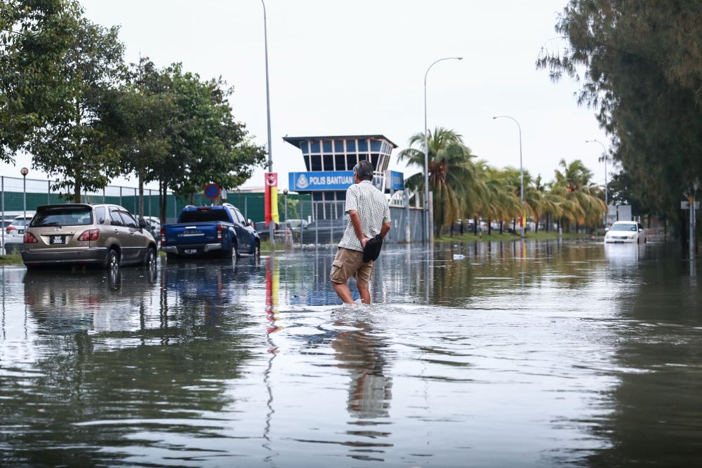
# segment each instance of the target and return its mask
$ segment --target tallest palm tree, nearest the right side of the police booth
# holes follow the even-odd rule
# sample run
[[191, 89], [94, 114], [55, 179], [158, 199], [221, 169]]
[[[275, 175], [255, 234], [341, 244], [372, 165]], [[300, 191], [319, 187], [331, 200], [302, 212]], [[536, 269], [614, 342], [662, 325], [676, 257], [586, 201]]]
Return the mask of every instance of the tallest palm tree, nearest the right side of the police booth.
[[[428, 134], [429, 189], [434, 196], [434, 225], [437, 232], [446, 225], [453, 225], [466, 212], [477, 196], [475, 193], [475, 157], [463, 144], [455, 131], [437, 127]], [[397, 156], [408, 166], [424, 168], [424, 133], [415, 133], [409, 139], [409, 148]], [[424, 173], [411, 175], [407, 187], [416, 194], [424, 193]]]

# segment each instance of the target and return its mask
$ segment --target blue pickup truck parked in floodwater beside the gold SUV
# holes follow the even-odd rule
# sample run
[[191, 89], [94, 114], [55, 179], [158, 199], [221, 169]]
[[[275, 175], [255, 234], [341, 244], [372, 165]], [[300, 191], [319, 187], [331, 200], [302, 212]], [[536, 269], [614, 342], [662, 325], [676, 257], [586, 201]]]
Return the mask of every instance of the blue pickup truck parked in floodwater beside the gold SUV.
[[168, 257], [260, 255], [256, 229], [230, 203], [186, 206], [175, 225], [161, 227], [161, 248]]

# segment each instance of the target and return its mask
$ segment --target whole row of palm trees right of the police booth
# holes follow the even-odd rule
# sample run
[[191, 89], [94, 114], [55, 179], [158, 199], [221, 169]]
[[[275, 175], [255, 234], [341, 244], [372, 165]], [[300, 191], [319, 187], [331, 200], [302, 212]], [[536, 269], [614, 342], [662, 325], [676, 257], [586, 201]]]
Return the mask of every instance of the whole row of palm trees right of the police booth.
[[[592, 171], [576, 159], [560, 161], [555, 179], [549, 184], [524, 171], [524, 203], [521, 201], [522, 177], [519, 169], [498, 169], [476, 159], [458, 133], [437, 127], [428, 133], [429, 189], [434, 194], [434, 226], [451, 227], [458, 220], [483, 218], [488, 221], [517, 222], [522, 214], [537, 224], [563, 220], [567, 225], [602, 225], [604, 192], [592, 183]], [[408, 166], [424, 168], [425, 139], [416, 133], [409, 147], [398, 154]], [[423, 171], [411, 175], [406, 185], [423, 198]], [[547, 223], [548, 225], [548, 223]], [[477, 229], [477, 223], [476, 223]]]

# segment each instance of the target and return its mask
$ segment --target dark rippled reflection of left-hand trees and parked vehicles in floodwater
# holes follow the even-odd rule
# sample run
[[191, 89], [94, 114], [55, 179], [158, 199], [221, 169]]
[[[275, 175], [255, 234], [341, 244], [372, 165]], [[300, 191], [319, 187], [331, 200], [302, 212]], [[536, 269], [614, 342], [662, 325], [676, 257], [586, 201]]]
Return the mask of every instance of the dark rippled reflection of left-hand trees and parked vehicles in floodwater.
[[[165, 268], [160, 290], [140, 269], [27, 272], [34, 338], [24, 359], [3, 356], [0, 399], [22, 404], [4, 405], [2, 425], [15, 429], [2, 451], [32, 466], [140, 464], [175, 448], [183, 460], [211, 455], [192, 437], [216, 437], [232, 404], [226, 380], [250, 356], [232, 334], [245, 322], [228, 299], [240, 272]], [[3, 350], [21, 354], [19, 346]]]

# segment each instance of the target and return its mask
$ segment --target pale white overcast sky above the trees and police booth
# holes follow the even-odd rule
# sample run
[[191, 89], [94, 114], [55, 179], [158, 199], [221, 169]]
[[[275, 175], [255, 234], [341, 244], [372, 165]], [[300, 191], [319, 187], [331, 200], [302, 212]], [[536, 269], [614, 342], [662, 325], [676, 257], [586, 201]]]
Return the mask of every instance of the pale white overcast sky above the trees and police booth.
[[[140, 55], [163, 67], [183, 62], [205, 79], [222, 76], [234, 95], [234, 116], [266, 145], [263, 6], [260, 0], [83, 0], [86, 16], [120, 25], [126, 61]], [[494, 166], [524, 168], [551, 180], [560, 159], [581, 159], [604, 182], [598, 162], [608, 145], [594, 110], [578, 107], [578, 83], [551, 83], [534, 65], [542, 46], [557, 47], [557, 15], [567, 0], [266, 0], [272, 154], [282, 187], [304, 171], [300, 150], [285, 135], [383, 134], [406, 147], [423, 130], [423, 79], [428, 126], [452, 128]], [[17, 166], [29, 165], [19, 157]], [[405, 175], [393, 157], [390, 168]], [[17, 168], [1, 167], [5, 175]], [[45, 178], [32, 171], [28, 177]], [[135, 181], [116, 182], [134, 185]], [[263, 186], [263, 170], [246, 186]]]

